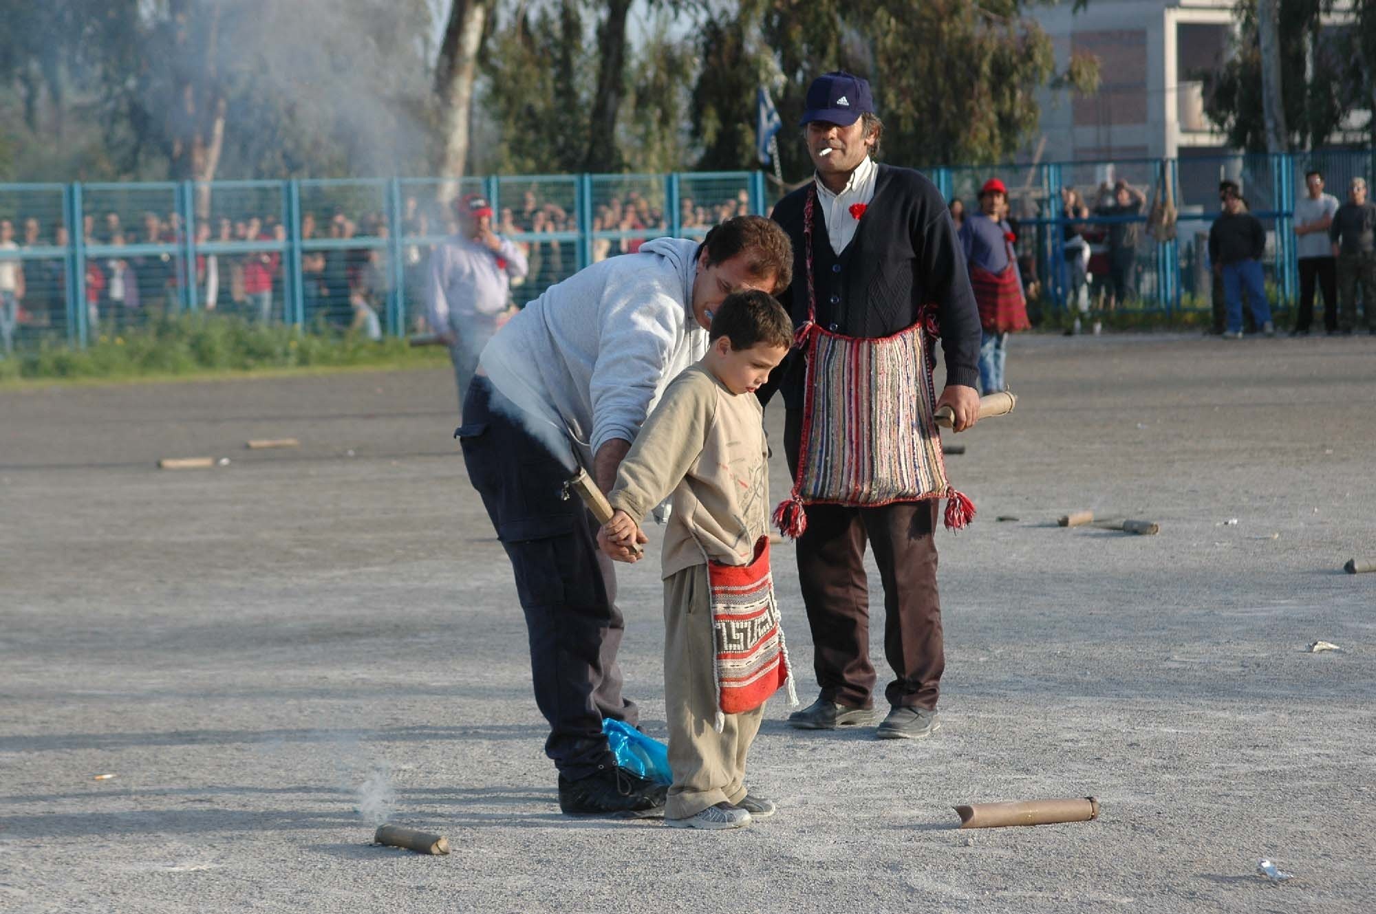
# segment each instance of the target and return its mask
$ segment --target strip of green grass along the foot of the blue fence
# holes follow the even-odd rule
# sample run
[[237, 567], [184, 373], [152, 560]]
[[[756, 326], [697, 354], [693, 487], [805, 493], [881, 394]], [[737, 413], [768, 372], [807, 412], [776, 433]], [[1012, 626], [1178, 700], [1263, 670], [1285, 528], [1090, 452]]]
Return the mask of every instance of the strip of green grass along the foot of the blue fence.
[[106, 333], [84, 350], [43, 343], [0, 361], [0, 384], [47, 380], [122, 381], [297, 369], [425, 368], [447, 362], [443, 347], [405, 339], [373, 341], [323, 325], [310, 330], [237, 317], [189, 314]]

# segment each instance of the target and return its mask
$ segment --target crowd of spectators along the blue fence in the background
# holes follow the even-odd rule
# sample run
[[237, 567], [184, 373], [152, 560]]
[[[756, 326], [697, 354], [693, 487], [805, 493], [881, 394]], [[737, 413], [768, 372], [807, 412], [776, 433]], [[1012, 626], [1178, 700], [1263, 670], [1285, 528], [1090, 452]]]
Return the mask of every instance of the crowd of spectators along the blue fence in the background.
[[[700, 237], [725, 219], [751, 212], [750, 193], [743, 187], [724, 189], [721, 197], [707, 197], [703, 187], [685, 183], [688, 189], [699, 191], [698, 195], [685, 193], [677, 201], [678, 228], [688, 237]], [[1311, 171], [1306, 175], [1306, 193], [1295, 204], [1292, 244], [1300, 285], [1295, 334], [1311, 332], [1320, 297], [1324, 330], [1329, 333], [1354, 332], [1358, 303], [1376, 299], [1376, 205], [1366, 198], [1366, 184], [1361, 179], [1346, 190], [1347, 200], [1339, 202], [1324, 191], [1324, 176]], [[579, 220], [570, 197], [564, 184], [546, 189], [531, 184], [517, 191], [510, 205], [499, 208], [497, 231], [512, 238], [530, 264], [527, 275], [512, 282], [516, 304], [524, 304], [579, 266]], [[1038, 256], [1039, 251], [1050, 245], [1049, 235], [1036, 238], [1029, 231], [1024, 237], [1020, 222], [1035, 219], [1039, 228], [1044, 227], [1040, 206], [1040, 201], [1014, 190], [1002, 209], [1002, 217], [1018, 240], [1017, 266], [1029, 303], [1040, 295], [1039, 270], [1047, 266]], [[1229, 319], [1234, 299], [1245, 328], [1265, 330], [1269, 310], [1265, 321], [1256, 321], [1255, 306], [1241, 307], [1267, 303], [1260, 301], [1265, 284], [1258, 278], [1262, 252], [1249, 246], [1256, 235], [1248, 222], [1248, 201], [1234, 182], [1221, 184], [1219, 211], [1210, 226], [1207, 245], [1203, 234], [1197, 246], [1182, 245], [1185, 273], [1190, 271], [1192, 262], [1203, 262], [1207, 264], [1204, 275], [1212, 274], [1211, 332], [1237, 333]], [[1060, 279], [1071, 311], [1066, 332], [1079, 333], [1088, 323], [1086, 329], [1097, 333], [1104, 315], [1141, 296], [1146, 271], [1138, 252], [1146, 238], [1148, 194], [1127, 180], [1099, 182], [1090, 191], [1068, 186], [1060, 191], [1055, 215], [1050, 231], [1060, 234], [1061, 241]], [[951, 201], [951, 217], [959, 230], [966, 217], [962, 200]], [[1245, 227], [1249, 240], [1223, 231], [1225, 244], [1221, 245], [1219, 226]], [[391, 264], [391, 228], [381, 212], [325, 206], [303, 213], [301, 304], [307, 323], [377, 337], [380, 315], [385, 312], [398, 278], [406, 292], [407, 314], [424, 312], [429, 255], [440, 238], [457, 231], [455, 217], [446, 206], [406, 197], [400, 213], [399, 270]], [[594, 189], [590, 228], [588, 253], [592, 262], [599, 262], [640, 251], [649, 238], [669, 233], [670, 220], [662, 202], [634, 187], [605, 193]], [[103, 209], [84, 216], [83, 234], [91, 251], [85, 259], [85, 307], [92, 332], [117, 333], [149, 315], [178, 307], [183, 284], [189, 281], [182, 257], [183, 220], [178, 212], [142, 212], [131, 219], [124, 211]], [[358, 240], [358, 245], [350, 245], [351, 240]], [[288, 241], [288, 227], [277, 215], [212, 213], [198, 220], [193, 279], [200, 307], [253, 321], [282, 319], [285, 303], [293, 299], [285, 288], [290, 281], [283, 263]], [[21, 326], [62, 325], [67, 282], [62, 256], [17, 260], [7, 259], [6, 252], [62, 249], [69, 244], [67, 228], [61, 220], [47, 222], [41, 215], [0, 219], [0, 344], [4, 352], [12, 348]], [[121, 251], [131, 246], [133, 253]]]

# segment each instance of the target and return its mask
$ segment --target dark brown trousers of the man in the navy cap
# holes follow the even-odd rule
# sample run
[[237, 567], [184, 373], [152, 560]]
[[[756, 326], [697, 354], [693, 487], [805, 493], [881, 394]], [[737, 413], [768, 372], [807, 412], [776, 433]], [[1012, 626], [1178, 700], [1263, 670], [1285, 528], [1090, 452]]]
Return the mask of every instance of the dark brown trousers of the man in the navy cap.
[[[802, 413], [788, 410], [784, 453], [794, 475], [801, 438]], [[936, 500], [882, 508], [808, 505], [808, 530], [798, 537], [798, 582], [823, 698], [872, 706], [868, 544], [883, 584], [883, 652], [894, 673], [885, 698], [894, 708], [936, 710], [945, 669], [933, 538], [938, 509]]]

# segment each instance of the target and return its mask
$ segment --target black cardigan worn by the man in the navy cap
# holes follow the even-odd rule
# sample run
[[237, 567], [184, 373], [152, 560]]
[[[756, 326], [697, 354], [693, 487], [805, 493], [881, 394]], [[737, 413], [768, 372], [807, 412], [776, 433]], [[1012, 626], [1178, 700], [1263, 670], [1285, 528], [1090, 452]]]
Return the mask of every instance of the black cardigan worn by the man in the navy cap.
[[[978, 388], [980, 310], [945, 200], [911, 168], [879, 164], [878, 169], [874, 200], [839, 257], [831, 251], [821, 205], [813, 205], [817, 323], [846, 336], [892, 336], [916, 323], [923, 304], [936, 303], [945, 383]], [[793, 241], [793, 285], [777, 297], [795, 328], [808, 319], [802, 212], [810, 186], [780, 200], [771, 216]], [[761, 399], [768, 402], [779, 390], [788, 409], [801, 409], [805, 380], [806, 359], [794, 350], [775, 369]]]

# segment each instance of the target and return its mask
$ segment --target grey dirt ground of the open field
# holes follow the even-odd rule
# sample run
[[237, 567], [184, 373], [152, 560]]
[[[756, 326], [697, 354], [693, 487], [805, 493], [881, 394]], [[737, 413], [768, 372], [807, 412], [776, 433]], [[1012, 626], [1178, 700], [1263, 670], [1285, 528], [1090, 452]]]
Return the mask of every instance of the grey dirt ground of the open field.
[[[940, 540], [944, 728], [776, 701], [780, 812], [731, 834], [559, 815], [449, 372], [0, 394], [0, 910], [1376, 908], [1376, 574], [1340, 571], [1376, 556], [1376, 340], [1020, 337], [1009, 379], [951, 458], [980, 515]], [[187, 456], [231, 463], [154, 468]], [[622, 581], [662, 736], [658, 562]], [[1086, 794], [1098, 822], [952, 827]], [[378, 811], [454, 853], [370, 847]]]

